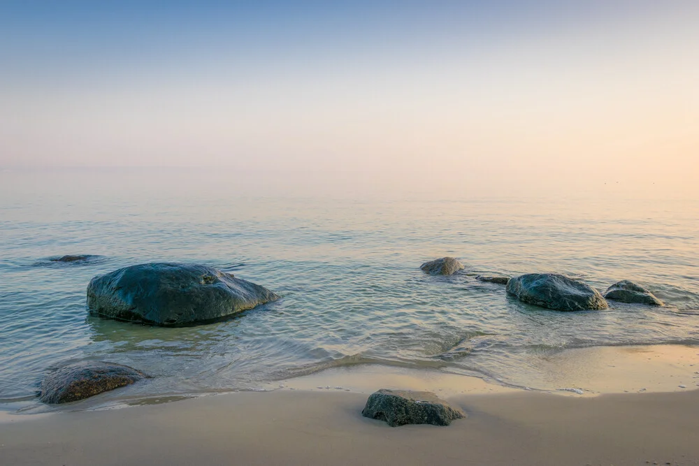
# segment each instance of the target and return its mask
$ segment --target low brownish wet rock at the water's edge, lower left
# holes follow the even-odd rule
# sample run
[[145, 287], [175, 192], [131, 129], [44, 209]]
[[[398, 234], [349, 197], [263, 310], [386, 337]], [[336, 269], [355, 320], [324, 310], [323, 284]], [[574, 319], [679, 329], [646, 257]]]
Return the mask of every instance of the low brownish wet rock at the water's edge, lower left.
[[133, 384], [145, 375], [126, 365], [84, 361], [61, 367], [41, 384], [39, 399], [45, 403], [67, 403]]

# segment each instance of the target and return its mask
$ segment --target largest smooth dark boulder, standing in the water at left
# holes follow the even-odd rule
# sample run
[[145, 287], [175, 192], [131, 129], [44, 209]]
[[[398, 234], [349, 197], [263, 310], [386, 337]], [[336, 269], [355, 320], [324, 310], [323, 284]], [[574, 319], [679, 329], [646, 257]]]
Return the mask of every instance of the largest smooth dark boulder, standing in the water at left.
[[221, 319], [278, 298], [233, 274], [182, 263], [131, 265], [87, 285], [90, 314], [159, 326]]

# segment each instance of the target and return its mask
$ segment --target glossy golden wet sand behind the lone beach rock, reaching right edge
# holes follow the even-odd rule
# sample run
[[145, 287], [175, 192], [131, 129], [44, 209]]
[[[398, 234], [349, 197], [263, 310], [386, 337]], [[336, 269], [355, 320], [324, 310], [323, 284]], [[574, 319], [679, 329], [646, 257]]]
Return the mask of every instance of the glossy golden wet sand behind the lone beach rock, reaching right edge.
[[[699, 389], [699, 346], [628, 345], [565, 349], [542, 354], [545, 368], [529, 381], [502, 381], [437, 370], [382, 365], [339, 367], [286, 379], [284, 388], [358, 393], [381, 388], [434, 391], [442, 395], [519, 393], [538, 391], [559, 395], [597, 396], [612, 393], [669, 393]], [[682, 388], [684, 386], [684, 388]], [[329, 388], [328, 388], [329, 387]], [[576, 393], [572, 390], [582, 390]]]

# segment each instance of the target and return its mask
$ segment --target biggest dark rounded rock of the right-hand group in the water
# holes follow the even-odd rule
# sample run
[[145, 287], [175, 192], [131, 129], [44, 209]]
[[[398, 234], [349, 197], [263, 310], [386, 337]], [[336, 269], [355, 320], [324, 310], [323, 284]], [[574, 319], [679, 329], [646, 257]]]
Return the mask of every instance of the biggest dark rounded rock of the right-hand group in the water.
[[529, 273], [507, 282], [507, 293], [520, 301], [558, 311], [607, 309], [596, 289], [555, 273]]

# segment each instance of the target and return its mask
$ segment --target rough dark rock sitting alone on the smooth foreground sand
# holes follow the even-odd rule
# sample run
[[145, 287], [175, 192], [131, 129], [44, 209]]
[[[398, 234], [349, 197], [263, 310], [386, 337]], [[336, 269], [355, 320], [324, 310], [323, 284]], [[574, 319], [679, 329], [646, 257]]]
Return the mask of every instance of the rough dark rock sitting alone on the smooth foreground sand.
[[405, 424], [449, 425], [454, 419], [466, 417], [428, 391], [382, 389], [372, 393], [361, 415], [386, 421], [391, 427]]

